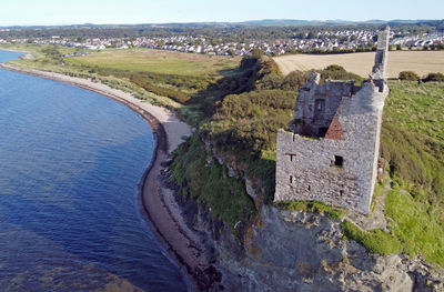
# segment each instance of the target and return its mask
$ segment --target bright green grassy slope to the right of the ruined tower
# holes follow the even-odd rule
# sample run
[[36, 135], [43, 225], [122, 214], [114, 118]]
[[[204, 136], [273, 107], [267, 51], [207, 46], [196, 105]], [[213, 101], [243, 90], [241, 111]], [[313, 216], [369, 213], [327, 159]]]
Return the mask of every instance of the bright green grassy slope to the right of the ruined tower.
[[385, 217], [390, 232], [343, 223], [372, 252], [422, 254], [444, 266], [444, 83], [390, 81], [382, 154], [392, 181]]

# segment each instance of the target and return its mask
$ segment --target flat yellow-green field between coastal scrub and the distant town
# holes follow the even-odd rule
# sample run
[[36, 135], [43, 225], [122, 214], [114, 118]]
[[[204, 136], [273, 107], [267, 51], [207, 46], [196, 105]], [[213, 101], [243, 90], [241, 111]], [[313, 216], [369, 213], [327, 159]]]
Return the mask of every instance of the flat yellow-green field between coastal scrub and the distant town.
[[239, 66], [240, 58], [181, 53], [148, 49], [104, 50], [69, 58], [69, 63], [88, 67], [176, 75], [219, 75]]

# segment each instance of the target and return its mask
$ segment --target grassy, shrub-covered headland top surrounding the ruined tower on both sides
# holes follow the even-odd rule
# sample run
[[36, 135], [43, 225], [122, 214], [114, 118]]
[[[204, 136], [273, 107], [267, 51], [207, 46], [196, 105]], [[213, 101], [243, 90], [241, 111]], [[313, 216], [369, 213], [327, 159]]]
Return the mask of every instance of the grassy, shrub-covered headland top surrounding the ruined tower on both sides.
[[[251, 61], [251, 60], [250, 60]], [[245, 61], [244, 61], [245, 62]], [[254, 207], [271, 203], [274, 192], [275, 133], [279, 128], [286, 128], [293, 114], [296, 98], [295, 89], [306, 82], [307, 72], [295, 71], [282, 77], [270, 60], [256, 60], [258, 67], [251, 74], [254, 80], [249, 90], [226, 94], [218, 100], [200, 124], [191, 144], [200, 144], [208, 159], [211, 154], [222, 158], [223, 168], [231, 168], [238, 178], [253, 181], [256, 195]], [[320, 71], [322, 79], [357, 79], [339, 67], [329, 67]], [[412, 256], [422, 254], [427, 261], [444, 265], [444, 83], [426, 82], [417, 87], [416, 82], [390, 81], [392, 92], [384, 110], [382, 132], [382, 154], [387, 162], [391, 180], [390, 188], [380, 185], [381, 195], [385, 195], [385, 217], [390, 232], [383, 230], [363, 231], [351, 221], [342, 226], [349, 239], [362, 243], [369, 251], [390, 254], [403, 252]], [[192, 173], [199, 168], [186, 168], [182, 163], [185, 150], [175, 158], [174, 173], [195, 180]], [[181, 162], [182, 161], [182, 162]], [[181, 168], [176, 168], [176, 165]], [[183, 180], [179, 180], [183, 183]], [[192, 188], [185, 190], [199, 195], [205, 179], [195, 180]], [[387, 191], [389, 190], [389, 191]], [[246, 197], [246, 191], [233, 192]], [[202, 192], [201, 192], [202, 193]], [[216, 192], [211, 201], [216, 202]], [[229, 195], [229, 194], [228, 194]], [[221, 199], [222, 200], [222, 199]], [[236, 199], [238, 200], [238, 199]], [[216, 203], [210, 203], [214, 215], [222, 221], [233, 222], [252, 220], [253, 204], [225, 205], [233, 218], [225, 221], [218, 213]], [[209, 201], [206, 201], [209, 202]], [[333, 219], [341, 219], [342, 210], [313, 202], [292, 202], [278, 204], [280, 208], [321, 212]], [[250, 210], [250, 211], [246, 211]], [[242, 214], [249, 214], [244, 217]], [[232, 225], [231, 225], [232, 226]]]

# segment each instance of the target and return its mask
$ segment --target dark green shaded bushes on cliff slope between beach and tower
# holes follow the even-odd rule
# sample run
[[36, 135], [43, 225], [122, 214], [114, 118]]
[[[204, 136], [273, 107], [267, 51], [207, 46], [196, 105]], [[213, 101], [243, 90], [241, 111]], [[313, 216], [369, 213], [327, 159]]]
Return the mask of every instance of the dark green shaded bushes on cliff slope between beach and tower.
[[246, 193], [245, 182], [229, 177], [228, 169], [218, 161], [210, 163], [199, 132], [174, 151], [171, 170], [171, 180], [182, 187], [180, 193], [205, 205], [211, 218], [223, 221], [234, 234], [239, 235], [234, 229], [236, 222], [255, 219], [258, 211]]

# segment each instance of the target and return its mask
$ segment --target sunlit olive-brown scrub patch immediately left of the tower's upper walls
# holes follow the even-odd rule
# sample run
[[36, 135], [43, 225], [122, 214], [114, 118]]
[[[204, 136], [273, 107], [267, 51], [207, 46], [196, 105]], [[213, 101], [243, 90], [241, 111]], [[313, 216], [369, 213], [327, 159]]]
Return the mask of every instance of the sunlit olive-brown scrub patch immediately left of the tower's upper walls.
[[259, 157], [261, 150], [274, 149], [276, 131], [290, 123], [294, 102], [294, 92], [283, 90], [228, 95], [202, 129], [222, 151], [239, 159]]

